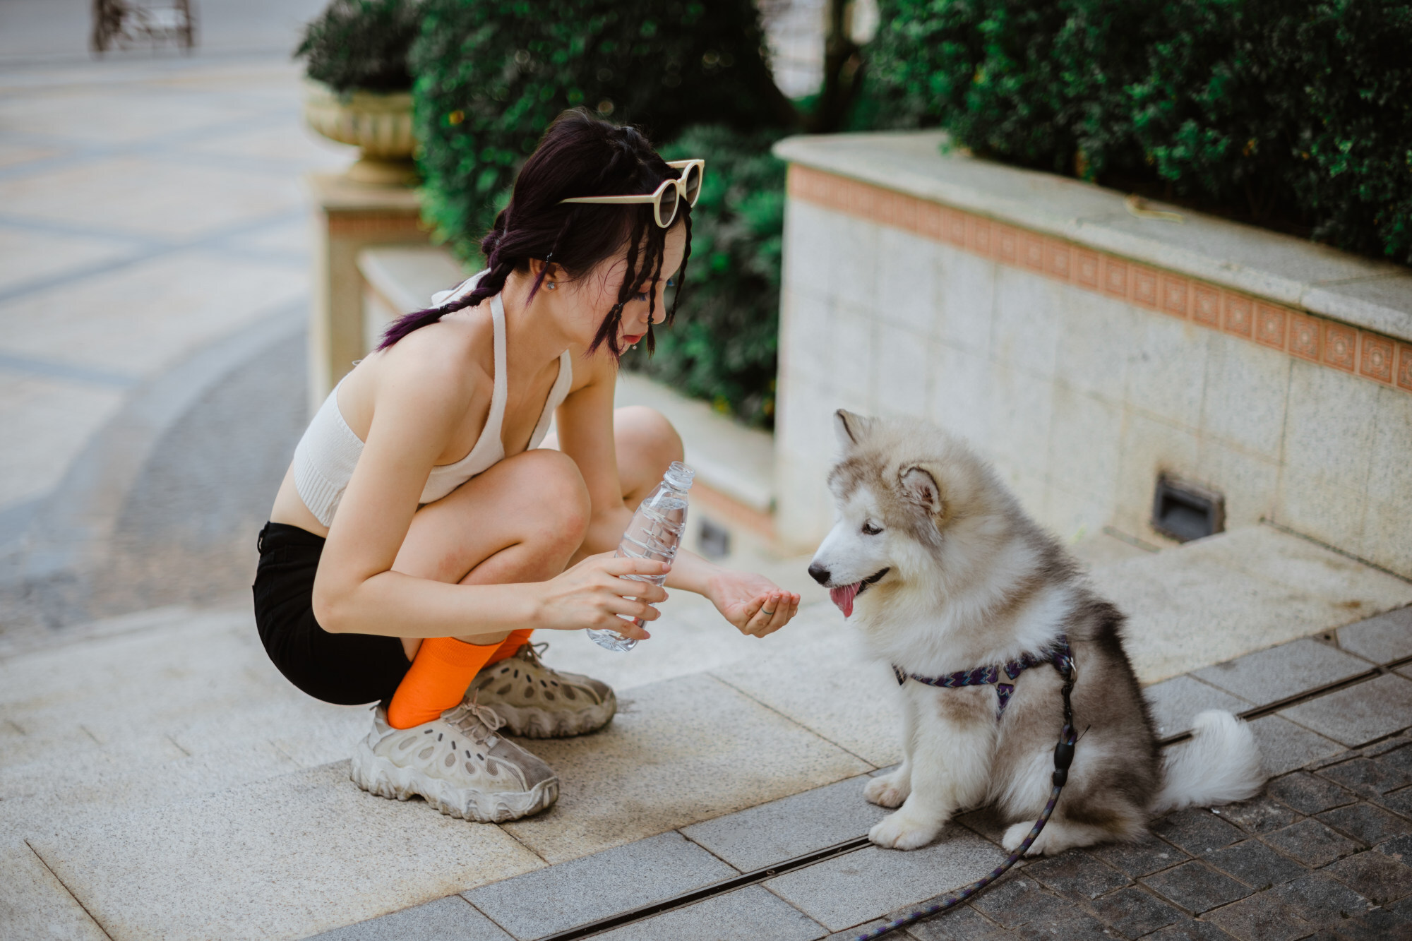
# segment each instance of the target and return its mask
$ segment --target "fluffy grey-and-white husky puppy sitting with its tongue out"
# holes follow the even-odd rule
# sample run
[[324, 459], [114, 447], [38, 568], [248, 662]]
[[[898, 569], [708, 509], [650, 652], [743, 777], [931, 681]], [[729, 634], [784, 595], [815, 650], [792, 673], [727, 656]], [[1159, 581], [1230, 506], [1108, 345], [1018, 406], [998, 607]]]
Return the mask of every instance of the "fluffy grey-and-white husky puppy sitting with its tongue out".
[[[966, 808], [994, 804], [1014, 851], [1049, 800], [1063, 685], [1048, 661], [1012, 681], [939, 688], [936, 678], [1045, 657], [1067, 636], [1076, 665], [1069, 781], [1029, 855], [1131, 841], [1155, 814], [1224, 804], [1264, 784], [1250, 728], [1203, 712], [1190, 742], [1161, 756], [1123, 615], [970, 448], [922, 421], [837, 411], [843, 454], [829, 475], [839, 521], [809, 574], [899, 677], [902, 764], [864, 788], [897, 807], [868, 836], [916, 849]], [[856, 615], [856, 616], [854, 616]], [[1003, 705], [1003, 708], [1000, 708]]]

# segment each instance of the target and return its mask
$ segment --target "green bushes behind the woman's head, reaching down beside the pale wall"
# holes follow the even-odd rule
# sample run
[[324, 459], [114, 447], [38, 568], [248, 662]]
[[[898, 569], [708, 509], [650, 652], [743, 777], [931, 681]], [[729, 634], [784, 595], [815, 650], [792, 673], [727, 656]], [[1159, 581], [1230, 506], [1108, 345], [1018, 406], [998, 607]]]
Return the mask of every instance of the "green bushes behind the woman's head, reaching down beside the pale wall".
[[[465, 261], [554, 117], [586, 105], [668, 160], [703, 157], [692, 260], [657, 355], [624, 366], [770, 424], [784, 167], [792, 120], [761, 54], [753, 0], [425, 0], [412, 48], [424, 216]], [[665, 143], [665, 144], [664, 144]]]

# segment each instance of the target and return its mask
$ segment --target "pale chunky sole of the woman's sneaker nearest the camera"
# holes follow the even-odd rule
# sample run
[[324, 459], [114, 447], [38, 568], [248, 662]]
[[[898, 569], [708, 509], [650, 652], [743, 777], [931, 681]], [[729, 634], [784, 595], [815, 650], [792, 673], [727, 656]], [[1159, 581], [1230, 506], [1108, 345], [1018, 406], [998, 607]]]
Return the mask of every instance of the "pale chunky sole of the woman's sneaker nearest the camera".
[[459, 788], [450, 781], [428, 777], [417, 769], [400, 767], [388, 759], [374, 754], [364, 742], [359, 742], [353, 752], [349, 777], [369, 794], [398, 801], [417, 795], [448, 817], [480, 824], [503, 824], [530, 817], [559, 800], [558, 777], [545, 779], [528, 791]]

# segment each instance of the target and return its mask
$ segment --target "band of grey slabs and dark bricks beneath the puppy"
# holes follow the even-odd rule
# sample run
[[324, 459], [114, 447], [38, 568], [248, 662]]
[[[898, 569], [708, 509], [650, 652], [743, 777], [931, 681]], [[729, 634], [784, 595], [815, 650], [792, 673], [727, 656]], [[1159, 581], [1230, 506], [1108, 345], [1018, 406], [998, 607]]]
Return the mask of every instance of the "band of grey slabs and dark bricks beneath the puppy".
[[[1372, 657], [1370, 658], [1365, 657]], [[1148, 688], [1163, 735], [1207, 708], [1248, 711], [1412, 656], [1412, 608]], [[1255, 721], [1275, 777], [1250, 801], [1190, 808], [1138, 845], [1027, 860], [986, 893], [894, 937], [914, 941], [1412, 938], [1412, 682], [1385, 671]], [[885, 811], [847, 779], [319, 935], [531, 941], [867, 832]], [[980, 811], [912, 853], [864, 846], [761, 875], [592, 937], [856, 938], [1004, 858]], [[1404, 859], [1406, 862], [1404, 862]], [[942, 893], [942, 894], [939, 894]]]

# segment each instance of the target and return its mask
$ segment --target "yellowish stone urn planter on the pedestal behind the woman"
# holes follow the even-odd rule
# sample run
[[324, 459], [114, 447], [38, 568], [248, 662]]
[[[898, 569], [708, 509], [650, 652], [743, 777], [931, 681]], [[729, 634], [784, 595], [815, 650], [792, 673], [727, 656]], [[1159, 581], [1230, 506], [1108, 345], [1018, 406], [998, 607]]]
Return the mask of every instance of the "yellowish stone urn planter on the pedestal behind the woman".
[[361, 150], [347, 178], [381, 187], [418, 181], [412, 164], [411, 92], [349, 92], [305, 79], [304, 120], [319, 134]]

